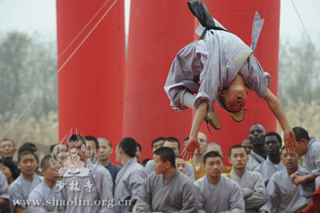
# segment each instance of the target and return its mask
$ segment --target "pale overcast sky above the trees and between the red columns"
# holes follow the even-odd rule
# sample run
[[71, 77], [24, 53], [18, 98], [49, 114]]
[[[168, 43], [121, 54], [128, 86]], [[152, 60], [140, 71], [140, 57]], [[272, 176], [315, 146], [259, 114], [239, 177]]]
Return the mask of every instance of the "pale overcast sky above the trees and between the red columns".
[[[130, 0], [125, 0], [126, 4]], [[314, 43], [320, 35], [320, 1], [293, 0], [306, 30]], [[127, 11], [129, 7], [127, 6]], [[129, 16], [128, 16], [129, 17]], [[129, 18], [127, 17], [127, 21]], [[263, 18], [263, 17], [262, 17]], [[55, 0], [0, 0], [0, 36], [9, 31], [33, 33], [55, 38], [56, 36]], [[297, 39], [304, 33], [292, 0], [281, 1], [280, 36]]]

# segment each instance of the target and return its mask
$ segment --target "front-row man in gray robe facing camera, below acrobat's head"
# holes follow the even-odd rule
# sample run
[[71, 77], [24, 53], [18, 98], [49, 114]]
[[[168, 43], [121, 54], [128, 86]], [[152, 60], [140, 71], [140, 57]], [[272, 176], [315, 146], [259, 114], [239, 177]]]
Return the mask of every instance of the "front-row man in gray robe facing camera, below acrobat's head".
[[241, 187], [234, 180], [221, 175], [221, 155], [215, 152], [206, 153], [203, 164], [207, 175], [195, 182], [199, 192], [199, 213], [244, 213], [245, 201], [242, 198]]

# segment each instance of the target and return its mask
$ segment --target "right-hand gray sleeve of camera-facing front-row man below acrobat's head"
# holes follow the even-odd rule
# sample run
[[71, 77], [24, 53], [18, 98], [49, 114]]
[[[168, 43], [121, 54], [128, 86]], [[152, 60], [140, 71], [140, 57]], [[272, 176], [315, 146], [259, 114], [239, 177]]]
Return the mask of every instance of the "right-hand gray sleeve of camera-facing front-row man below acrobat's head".
[[245, 201], [242, 197], [242, 191], [240, 185], [235, 182], [233, 185], [233, 192], [230, 196], [230, 212], [245, 213]]

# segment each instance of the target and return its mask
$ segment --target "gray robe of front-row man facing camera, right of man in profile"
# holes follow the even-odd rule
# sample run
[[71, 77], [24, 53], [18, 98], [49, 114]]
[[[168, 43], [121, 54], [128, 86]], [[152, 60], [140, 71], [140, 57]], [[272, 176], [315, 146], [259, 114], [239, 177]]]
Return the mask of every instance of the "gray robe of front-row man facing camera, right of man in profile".
[[220, 176], [215, 186], [208, 180], [208, 175], [198, 179], [195, 183], [199, 192], [199, 213], [225, 212], [245, 213], [241, 187], [237, 182]]

